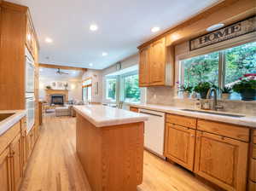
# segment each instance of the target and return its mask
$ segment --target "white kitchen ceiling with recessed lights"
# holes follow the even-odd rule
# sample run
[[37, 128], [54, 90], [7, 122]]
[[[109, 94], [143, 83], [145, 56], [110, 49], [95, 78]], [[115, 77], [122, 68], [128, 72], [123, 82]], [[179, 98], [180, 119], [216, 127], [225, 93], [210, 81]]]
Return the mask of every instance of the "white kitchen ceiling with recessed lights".
[[[39, 61], [106, 68], [137, 53], [155, 33], [188, 19], [218, 0], [7, 0], [28, 6], [40, 43]], [[89, 30], [96, 23], [97, 32]], [[53, 43], [45, 43], [52, 38]], [[108, 52], [108, 56], [102, 56]], [[93, 63], [90, 67], [89, 63]]]

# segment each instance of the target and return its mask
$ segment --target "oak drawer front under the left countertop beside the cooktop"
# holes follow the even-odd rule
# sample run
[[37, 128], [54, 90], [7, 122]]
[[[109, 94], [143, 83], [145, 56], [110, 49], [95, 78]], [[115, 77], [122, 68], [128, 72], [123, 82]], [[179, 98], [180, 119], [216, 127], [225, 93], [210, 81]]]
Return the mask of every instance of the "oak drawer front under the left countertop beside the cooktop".
[[3, 150], [9, 146], [9, 143], [12, 142], [15, 136], [17, 136], [19, 133], [20, 121], [9, 128], [9, 130], [3, 133], [2, 136], [0, 136], [0, 153], [2, 153]]

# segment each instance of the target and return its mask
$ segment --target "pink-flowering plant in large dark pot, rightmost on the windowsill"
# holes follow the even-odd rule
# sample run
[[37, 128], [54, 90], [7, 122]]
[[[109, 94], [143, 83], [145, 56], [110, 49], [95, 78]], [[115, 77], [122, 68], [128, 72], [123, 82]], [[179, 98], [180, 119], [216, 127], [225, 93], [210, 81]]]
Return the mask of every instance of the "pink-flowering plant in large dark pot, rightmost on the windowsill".
[[239, 93], [243, 101], [256, 100], [256, 73], [245, 74], [235, 82], [232, 90]]

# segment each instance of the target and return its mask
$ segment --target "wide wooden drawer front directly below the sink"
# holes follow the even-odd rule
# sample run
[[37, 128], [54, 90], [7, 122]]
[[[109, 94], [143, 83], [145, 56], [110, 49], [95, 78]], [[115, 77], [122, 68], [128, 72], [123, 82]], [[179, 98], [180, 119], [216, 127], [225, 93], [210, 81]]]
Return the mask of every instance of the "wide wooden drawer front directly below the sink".
[[226, 136], [241, 140], [243, 142], [249, 141], [250, 130], [246, 127], [236, 126], [234, 124], [223, 124], [213, 121], [198, 119], [197, 129], [207, 131], [219, 136]]

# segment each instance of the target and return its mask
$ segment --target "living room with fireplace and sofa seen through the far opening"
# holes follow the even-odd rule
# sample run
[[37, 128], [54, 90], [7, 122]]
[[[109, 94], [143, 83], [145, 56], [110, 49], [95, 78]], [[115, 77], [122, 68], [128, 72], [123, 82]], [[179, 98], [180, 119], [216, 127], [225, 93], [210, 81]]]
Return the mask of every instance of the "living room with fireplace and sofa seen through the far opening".
[[41, 65], [38, 78], [42, 116], [75, 116], [73, 105], [85, 103], [82, 92], [84, 72], [83, 68]]

